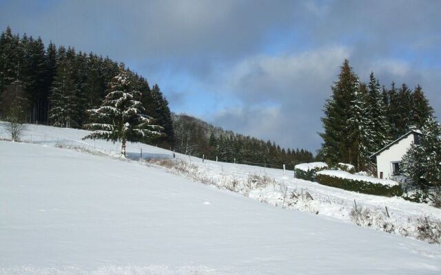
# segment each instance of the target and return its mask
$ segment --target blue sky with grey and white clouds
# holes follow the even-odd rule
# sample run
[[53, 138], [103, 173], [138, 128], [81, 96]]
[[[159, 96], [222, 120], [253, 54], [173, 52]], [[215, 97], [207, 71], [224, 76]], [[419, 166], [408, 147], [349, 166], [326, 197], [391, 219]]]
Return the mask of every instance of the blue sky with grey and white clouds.
[[124, 62], [175, 113], [315, 152], [345, 58], [441, 115], [441, 1], [0, 0], [0, 28]]

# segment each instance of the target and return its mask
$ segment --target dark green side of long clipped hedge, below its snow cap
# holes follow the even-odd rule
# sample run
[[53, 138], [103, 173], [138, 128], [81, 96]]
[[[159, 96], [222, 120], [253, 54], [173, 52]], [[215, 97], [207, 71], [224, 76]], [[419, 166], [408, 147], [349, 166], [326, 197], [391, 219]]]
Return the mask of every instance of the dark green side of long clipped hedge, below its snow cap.
[[379, 195], [385, 197], [401, 196], [402, 189], [400, 185], [387, 186], [376, 184], [369, 181], [354, 179], [344, 179], [341, 177], [332, 177], [329, 175], [318, 174], [316, 181], [319, 184], [345, 189], [348, 191], [360, 192], [370, 195]]

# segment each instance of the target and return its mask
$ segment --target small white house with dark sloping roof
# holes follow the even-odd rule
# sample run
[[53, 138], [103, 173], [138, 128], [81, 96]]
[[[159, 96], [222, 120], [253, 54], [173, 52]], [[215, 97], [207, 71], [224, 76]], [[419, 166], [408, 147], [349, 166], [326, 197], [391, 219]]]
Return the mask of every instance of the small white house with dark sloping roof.
[[420, 142], [421, 132], [416, 127], [409, 127], [402, 137], [384, 146], [380, 151], [373, 153], [371, 159], [377, 162], [377, 177], [380, 179], [391, 179], [401, 174], [400, 162], [407, 153], [411, 144]]

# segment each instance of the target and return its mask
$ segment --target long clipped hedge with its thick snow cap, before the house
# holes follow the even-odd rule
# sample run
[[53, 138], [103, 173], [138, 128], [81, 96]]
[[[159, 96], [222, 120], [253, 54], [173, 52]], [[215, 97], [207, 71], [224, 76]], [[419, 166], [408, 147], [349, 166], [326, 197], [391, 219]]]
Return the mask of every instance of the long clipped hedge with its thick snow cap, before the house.
[[319, 184], [370, 195], [380, 195], [386, 197], [402, 195], [401, 186], [396, 181], [352, 175], [344, 171], [319, 171], [316, 176], [316, 181]]

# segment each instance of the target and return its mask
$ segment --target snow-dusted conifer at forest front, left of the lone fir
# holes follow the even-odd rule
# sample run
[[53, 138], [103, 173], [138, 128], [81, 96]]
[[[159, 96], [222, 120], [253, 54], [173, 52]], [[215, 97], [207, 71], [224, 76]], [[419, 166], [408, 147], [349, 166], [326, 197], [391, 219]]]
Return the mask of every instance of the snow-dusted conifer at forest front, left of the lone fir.
[[74, 80], [72, 63], [65, 55], [65, 49], [59, 48], [57, 73], [52, 83], [50, 94], [49, 118], [54, 126], [71, 127], [78, 123], [78, 88]]

